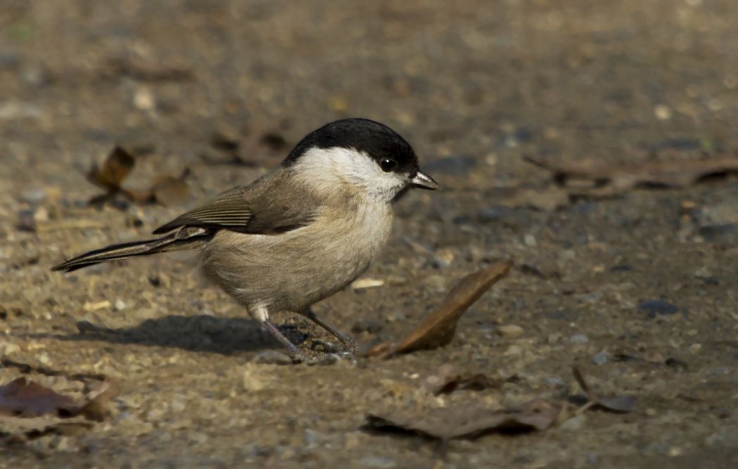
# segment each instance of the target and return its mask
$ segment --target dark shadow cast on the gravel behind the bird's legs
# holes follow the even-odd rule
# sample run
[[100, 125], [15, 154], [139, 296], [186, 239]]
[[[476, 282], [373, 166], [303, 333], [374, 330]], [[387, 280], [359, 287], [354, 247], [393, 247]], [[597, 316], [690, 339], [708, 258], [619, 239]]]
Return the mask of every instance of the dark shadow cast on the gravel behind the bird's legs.
[[[282, 324], [282, 333], [294, 344], [306, 341], [297, 324]], [[215, 316], [164, 316], [147, 319], [133, 327], [102, 327], [91, 322], [77, 322], [77, 333], [25, 334], [30, 338], [55, 338], [62, 341], [106, 341], [111, 344], [138, 344], [150, 347], [176, 347], [193, 352], [233, 355], [281, 349], [280, 343], [252, 319]]]

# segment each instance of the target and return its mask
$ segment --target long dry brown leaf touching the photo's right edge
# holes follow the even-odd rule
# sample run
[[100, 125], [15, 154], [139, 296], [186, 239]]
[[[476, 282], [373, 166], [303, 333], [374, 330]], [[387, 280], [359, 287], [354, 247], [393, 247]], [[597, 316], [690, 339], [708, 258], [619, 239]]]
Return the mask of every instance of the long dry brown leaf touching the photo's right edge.
[[531, 157], [525, 160], [551, 172], [556, 184], [584, 190], [629, 190], [634, 187], [688, 187], [710, 178], [738, 174], [738, 157], [686, 161], [647, 161], [614, 166], [598, 161], [578, 161], [575, 166], [555, 167]]

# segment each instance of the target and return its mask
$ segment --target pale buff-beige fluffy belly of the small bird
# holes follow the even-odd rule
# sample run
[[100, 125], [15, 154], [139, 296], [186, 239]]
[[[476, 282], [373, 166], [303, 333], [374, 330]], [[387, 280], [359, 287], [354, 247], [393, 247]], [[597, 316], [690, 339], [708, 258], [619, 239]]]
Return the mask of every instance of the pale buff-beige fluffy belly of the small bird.
[[365, 271], [390, 232], [391, 218], [379, 220], [337, 221], [328, 236], [320, 225], [282, 235], [220, 232], [203, 250], [202, 267], [246, 308], [303, 310]]

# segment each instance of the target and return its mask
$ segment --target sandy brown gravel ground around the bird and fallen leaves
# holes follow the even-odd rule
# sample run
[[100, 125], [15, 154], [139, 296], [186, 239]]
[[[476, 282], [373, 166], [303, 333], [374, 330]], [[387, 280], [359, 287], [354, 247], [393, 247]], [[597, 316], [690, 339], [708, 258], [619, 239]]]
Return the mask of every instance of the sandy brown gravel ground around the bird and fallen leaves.
[[[108, 420], [7, 445], [0, 466], [734, 467], [737, 181], [557, 199], [523, 157], [735, 154], [736, 24], [734, 0], [2, 1], [0, 354], [102, 373], [120, 394]], [[384, 285], [317, 311], [366, 347], [417, 324], [463, 275], [514, 260], [448, 346], [263, 363], [278, 345], [185, 255], [49, 271], [252, 181], [289, 149], [277, 136], [289, 147], [348, 116], [396, 128], [444, 189], [396, 206], [364, 275]], [[241, 142], [247, 164], [214, 135]], [[126, 184], [187, 167], [188, 200], [89, 206], [100, 190], [85, 173], [117, 144], [142, 153]], [[317, 335], [295, 324], [306, 343]], [[421, 383], [444, 364], [504, 382], [436, 397]], [[559, 400], [577, 391], [573, 365], [638, 409], [445, 454], [361, 429], [386, 409]], [[0, 368], [0, 383], [19, 375]]]

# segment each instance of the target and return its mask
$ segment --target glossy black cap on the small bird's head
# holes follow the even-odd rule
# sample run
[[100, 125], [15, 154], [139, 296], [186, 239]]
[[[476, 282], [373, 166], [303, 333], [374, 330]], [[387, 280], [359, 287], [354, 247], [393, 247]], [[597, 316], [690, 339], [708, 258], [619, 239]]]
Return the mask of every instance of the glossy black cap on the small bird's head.
[[366, 153], [378, 163], [382, 159], [395, 161], [393, 171], [398, 173], [414, 174], [418, 170], [418, 157], [413, 147], [387, 125], [370, 119], [353, 117], [337, 120], [308, 133], [282, 161], [282, 166], [291, 166], [313, 147], [353, 148]]

